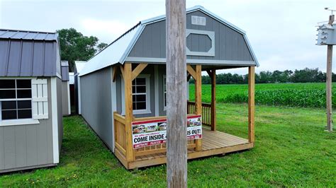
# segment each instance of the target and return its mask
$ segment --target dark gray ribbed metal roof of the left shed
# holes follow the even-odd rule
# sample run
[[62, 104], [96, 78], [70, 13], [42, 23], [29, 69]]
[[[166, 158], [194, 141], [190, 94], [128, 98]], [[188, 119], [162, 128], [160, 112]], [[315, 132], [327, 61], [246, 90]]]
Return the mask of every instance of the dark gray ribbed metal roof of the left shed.
[[57, 33], [0, 29], [0, 76], [60, 77]]

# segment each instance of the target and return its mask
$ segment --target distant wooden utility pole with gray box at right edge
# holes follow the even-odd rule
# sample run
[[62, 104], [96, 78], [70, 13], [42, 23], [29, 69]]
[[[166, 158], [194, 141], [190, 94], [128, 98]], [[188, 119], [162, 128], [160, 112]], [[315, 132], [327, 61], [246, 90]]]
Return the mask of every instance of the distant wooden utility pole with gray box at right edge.
[[[335, 16], [329, 16], [332, 25]], [[327, 131], [332, 131], [332, 45], [327, 45]]]

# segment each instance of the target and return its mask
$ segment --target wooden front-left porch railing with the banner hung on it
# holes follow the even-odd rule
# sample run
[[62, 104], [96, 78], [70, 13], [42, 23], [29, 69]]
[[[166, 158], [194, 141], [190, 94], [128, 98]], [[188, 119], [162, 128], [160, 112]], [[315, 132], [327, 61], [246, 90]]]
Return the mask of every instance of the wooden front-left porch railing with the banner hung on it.
[[[167, 117], [141, 117], [135, 118], [134, 122], [142, 122], [152, 119], [166, 119]], [[126, 155], [126, 133], [125, 133], [125, 117], [118, 112], [114, 112], [114, 131], [115, 131], [115, 146], [124, 156]], [[196, 143], [195, 140], [188, 140], [188, 149], [195, 149]], [[151, 155], [155, 153], [165, 153], [167, 149], [166, 143], [157, 144], [155, 146], [145, 146], [143, 148], [133, 149], [134, 156], [139, 157], [141, 155]]]

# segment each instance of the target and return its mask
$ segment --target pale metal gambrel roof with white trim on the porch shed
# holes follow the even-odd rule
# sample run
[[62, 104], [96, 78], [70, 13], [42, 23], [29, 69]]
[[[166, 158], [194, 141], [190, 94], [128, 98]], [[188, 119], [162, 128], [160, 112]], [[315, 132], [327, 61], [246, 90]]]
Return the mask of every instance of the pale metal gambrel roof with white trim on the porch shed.
[[[244, 30], [238, 28], [237, 26], [233, 25], [232, 23], [228, 22], [227, 20], [224, 20], [223, 18], [220, 18], [219, 16], [216, 16], [214, 13], [211, 13], [211, 11], [208, 11], [206, 8], [203, 8], [203, 6], [194, 6], [192, 8], [186, 9], [186, 13], [192, 13], [194, 11], [201, 11], [202, 13], [205, 13], [206, 15], [210, 16], [211, 18], [214, 18], [215, 20], [218, 20], [220, 23], [223, 23], [224, 25], [228, 26], [229, 28], [237, 31], [238, 33], [242, 34], [244, 37], [244, 40], [247, 44], [247, 47], [250, 51], [250, 54], [252, 55], [252, 62], [249, 62], [259, 66], [259, 63], [257, 61], [257, 57], [255, 56], [252, 47], [250, 45], [249, 40], [247, 39], [246, 33]], [[86, 63], [86, 66], [84, 66], [84, 69], [79, 74], [79, 76], [83, 76], [85, 74], [89, 74], [91, 72], [97, 71], [99, 69], [103, 69], [107, 66], [111, 66], [113, 64], [123, 64], [126, 61], [126, 58], [128, 57], [128, 54], [130, 54], [131, 49], [135, 45], [135, 42], [137, 42], [138, 38], [140, 37], [142, 31], [145, 29], [146, 25], [156, 23], [162, 20], [165, 20], [165, 15], [157, 16], [155, 18], [150, 18], [147, 20], [142, 20], [140, 23], [135, 25], [133, 28], [128, 30], [125, 34], [121, 35], [121, 37], [118, 37], [115, 41], [113, 41], [108, 47], [103, 49], [101, 52], [96, 54], [94, 57], [91, 57]], [[132, 59], [132, 57], [130, 57]], [[189, 59], [193, 61], [194, 59]], [[157, 63], [162, 63], [165, 61], [164, 59], [157, 59]], [[239, 66], [237, 64], [237, 61], [227, 61], [228, 64], [235, 64], [235, 66]], [[228, 65], [226, 64], [226, 65]], [[245, 64], [242, 64], [246, 66]]]

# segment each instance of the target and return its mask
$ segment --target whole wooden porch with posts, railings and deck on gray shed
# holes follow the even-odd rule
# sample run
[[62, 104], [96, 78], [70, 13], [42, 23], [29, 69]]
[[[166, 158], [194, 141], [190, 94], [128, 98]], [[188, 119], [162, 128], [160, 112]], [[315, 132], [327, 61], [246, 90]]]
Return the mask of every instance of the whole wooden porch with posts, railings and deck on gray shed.
[[[133, 65], [133, 66], [132, 66]], [[167, 117], [133, 116], [132, 81], [145, 69], [147, 64], [125, 63], [120, 66], [125, 84], [125, 116], [114, 112], [114, 143], [115, 155], [125, 168], [134, 169], [167, 162], [166, 143], [154, 146], [133, 148], [132, 124], [142, 121], [166, 119]], [[234, 151], [242, 151], [254, 147], [254, 66], [249, 67], [249, 105], [248, 105], [248, 139], [242, 139], [231, 134], [216, 131], [215, 121], [215, 69], [206, 69], [211, 77], [211, 103], [201, 102], [201, 65], [187, 65], [188, 78], [195, 80], [195, 102], [187, 102], [189, 115], [201, 115], [203, 133], [202, 139], [191, 139], [187, 142], [188, 159], [202, 158]], [[113, 81], [116, 69], [113, 69]], [[206, 126], [206, 127], [204, 127]]]

